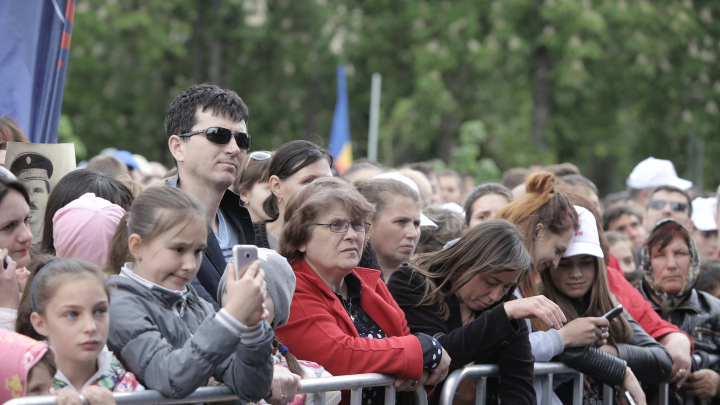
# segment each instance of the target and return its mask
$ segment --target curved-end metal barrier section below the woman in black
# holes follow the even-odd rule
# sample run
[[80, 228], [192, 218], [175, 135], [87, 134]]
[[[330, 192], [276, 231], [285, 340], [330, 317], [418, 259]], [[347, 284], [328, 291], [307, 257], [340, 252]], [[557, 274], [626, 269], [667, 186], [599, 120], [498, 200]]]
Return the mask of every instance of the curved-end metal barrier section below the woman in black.
[[[455, 391], [460, 382], [466, 378], [475, 379], [475, 404], [485, 405], [485, 387], [488, 377], [499, 375], [500, 368], [496, 364], [483, 364], [467, 366], [453, 371], [445, 380], [445, 386], [440, 393], [440, 405], [451, 405]], [[541, 376], [543, 397], [542, 405], [552, 404], [553, 375], [574, 374], [573, 376], [573, 405], [582, 404], [583, 374], [573, 370], [562, 363], [535, 363], [535, 375]]]

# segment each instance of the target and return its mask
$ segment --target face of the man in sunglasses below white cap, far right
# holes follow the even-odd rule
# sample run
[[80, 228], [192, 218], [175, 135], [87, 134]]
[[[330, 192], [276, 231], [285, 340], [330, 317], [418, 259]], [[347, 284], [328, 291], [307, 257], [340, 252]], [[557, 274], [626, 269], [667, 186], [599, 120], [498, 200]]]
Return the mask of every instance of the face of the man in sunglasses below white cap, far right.
[[658, 221], [672, 218], [692, 232], [692, 200], [685, 191], [674, 186], [660, 186], [652, 191], [645, 214], [648, 234]]

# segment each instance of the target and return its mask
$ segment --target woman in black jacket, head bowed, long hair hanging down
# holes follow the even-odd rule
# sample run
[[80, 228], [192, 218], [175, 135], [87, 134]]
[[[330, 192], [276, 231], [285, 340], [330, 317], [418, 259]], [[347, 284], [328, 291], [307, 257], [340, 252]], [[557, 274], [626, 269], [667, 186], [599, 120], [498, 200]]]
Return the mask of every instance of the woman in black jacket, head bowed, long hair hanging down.
[[528, 328], [519, 320], [538, 317], [556, 328], [565, 320], [545, 297], [511, 300], [532, 264], [517, 227], [490, 220], [453, 246], [397, 269], [388, 289], [410, 330], [435, 336], [450, 354], [450, 372], [469, 363], [500, 366], [500, 384], [490, 384], [488, 403], [532, 404], [534, 359]]

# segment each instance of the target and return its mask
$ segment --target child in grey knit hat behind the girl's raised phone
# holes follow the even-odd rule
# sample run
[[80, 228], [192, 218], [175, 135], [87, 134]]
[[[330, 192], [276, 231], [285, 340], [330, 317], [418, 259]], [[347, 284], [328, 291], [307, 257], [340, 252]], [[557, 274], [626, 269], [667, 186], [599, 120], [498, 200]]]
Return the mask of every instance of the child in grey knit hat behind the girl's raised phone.
[[[265, 297], [265, 308], [268, 311], [266, 320], [273, 328], [279, 328], [285, 325], [290, 317], [290, 301], [295, 292], [295, 273], [287, 259], [272, 249], [259, 248], [258, 259], [260, 259], [260, 268], [265, 271], [268, 290]], [[228, 300], [226, 286], [227, 271], [218, 283], [217, 297], [221, 305], [225, 305]], [[273, 339], [273, 347], [272, 360], [275, 367], [283, 367], [303, 379], [332, 377], [323, 366], [295, 358], [277, 338]], [[340, 391], [330, 391], [326, 394], [325, 405], [337, 405], [339, 402]], [[296, 394], [295, 399], [291, 401], [292, 405], [313, 405], [313, 403], [313, 396], [305, 394]]]

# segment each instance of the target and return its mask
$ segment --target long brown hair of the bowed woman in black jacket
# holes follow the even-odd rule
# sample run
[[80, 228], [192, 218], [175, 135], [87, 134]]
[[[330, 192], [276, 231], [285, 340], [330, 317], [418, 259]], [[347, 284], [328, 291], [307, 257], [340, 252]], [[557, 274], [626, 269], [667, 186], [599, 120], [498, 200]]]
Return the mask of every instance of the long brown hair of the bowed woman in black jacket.
[[[504, 219], [491, 219], [473, 227], [453, 246], [423, 253], [410, 266], [425, 276], [421, 304], [437, 306], [443, 319], [450, 316], [445, 297], [455, 294], [478, 274], [522, 270], [520, 279], [533, 267], [525, 236]], [[512, 296], [511, 288], [501, 301]]]

